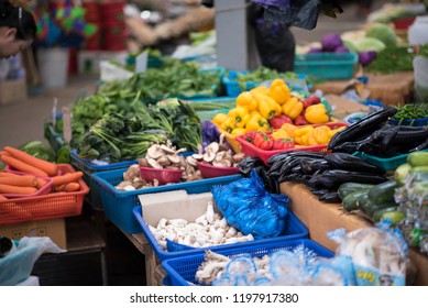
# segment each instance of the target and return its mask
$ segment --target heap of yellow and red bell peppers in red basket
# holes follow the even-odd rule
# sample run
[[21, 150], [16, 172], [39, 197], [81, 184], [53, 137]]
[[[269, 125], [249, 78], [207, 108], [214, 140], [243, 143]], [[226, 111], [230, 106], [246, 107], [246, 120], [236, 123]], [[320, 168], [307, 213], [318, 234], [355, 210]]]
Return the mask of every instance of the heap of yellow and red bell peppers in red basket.
[[268, 88], [260, 86], [241, 92], [235, 108], [212, 119], [222, 131], [234, 136], [249, 131], [272, 131], [284, 123], [305, 125], [329, 121], [329, 110], [319, 97], [298, 98], [283, 79], [275, 79]]

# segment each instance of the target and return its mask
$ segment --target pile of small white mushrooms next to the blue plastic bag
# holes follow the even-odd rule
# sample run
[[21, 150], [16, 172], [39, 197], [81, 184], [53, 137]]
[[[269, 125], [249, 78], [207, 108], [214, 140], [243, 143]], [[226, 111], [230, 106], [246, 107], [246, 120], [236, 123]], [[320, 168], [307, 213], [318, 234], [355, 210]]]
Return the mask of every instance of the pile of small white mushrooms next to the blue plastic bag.
[[231, 227], [226, 218], [215, 213], [213, 202], [209, 201], [204, 215], [187, 222], [185, 219], [162, 218], [156, 228], [149, 224], [157, 243], [166, 250], [166, 239], [193, 248], [207, 248], [220, 244], [253, 241], [252, 234], [244, 235]]

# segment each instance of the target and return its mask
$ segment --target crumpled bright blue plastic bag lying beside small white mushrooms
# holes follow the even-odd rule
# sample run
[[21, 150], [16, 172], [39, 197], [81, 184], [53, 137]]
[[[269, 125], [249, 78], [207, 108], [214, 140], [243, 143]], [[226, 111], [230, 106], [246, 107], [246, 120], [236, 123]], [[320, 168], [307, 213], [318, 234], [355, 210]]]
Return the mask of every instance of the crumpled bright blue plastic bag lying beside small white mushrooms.
[[226, 220], [243, 234], [255, 239], [282, 235], [288, 213], [288, 197], [270, 194], [253, 169], [251, 177], [213, 187], [213, 199]]

